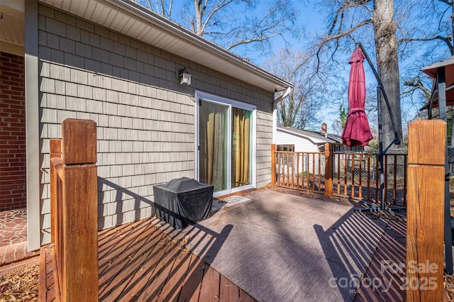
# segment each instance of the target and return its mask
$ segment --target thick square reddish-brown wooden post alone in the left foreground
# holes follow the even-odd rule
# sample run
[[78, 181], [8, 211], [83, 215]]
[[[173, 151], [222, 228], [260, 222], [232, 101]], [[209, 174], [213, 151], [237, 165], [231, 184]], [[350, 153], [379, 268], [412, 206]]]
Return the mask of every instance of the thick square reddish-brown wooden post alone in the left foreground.
[[96, 123], [62, 123], [62, 300], [98, 301]]

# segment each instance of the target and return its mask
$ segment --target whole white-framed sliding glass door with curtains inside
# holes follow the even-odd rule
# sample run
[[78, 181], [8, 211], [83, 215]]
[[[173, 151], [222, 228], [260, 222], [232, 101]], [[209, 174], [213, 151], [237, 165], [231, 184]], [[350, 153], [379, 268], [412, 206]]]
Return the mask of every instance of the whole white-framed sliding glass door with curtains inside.
[[255, 107], [209, 94], [197, 101], [199, 181], [213, 184], [215, 195], [255, 186]]

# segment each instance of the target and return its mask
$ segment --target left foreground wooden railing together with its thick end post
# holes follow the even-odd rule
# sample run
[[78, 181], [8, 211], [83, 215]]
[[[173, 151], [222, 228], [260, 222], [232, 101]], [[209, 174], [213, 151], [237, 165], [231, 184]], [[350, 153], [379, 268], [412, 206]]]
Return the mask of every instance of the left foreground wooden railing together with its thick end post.
[[50, 140], [51, 245], [57, 301], [98, 301], [96, 123], [67, 119]]

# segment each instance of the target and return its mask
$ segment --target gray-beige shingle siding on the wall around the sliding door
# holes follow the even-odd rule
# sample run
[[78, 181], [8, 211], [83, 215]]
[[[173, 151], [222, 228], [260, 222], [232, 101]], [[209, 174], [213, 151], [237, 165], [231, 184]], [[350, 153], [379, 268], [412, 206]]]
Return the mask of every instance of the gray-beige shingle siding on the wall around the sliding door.
[[[194, 91], [257, 106], [257, 186], [270, 182], [273, 94], [107, 28], [39, 5], [41, 167], [65, 118], [97, 124], [99, 228], [154, 214], [153, 185], [194, 177]], [[187, 67], [192, 85], [179, 85]], [[50, 241], [48, 174], [41, 242]]]

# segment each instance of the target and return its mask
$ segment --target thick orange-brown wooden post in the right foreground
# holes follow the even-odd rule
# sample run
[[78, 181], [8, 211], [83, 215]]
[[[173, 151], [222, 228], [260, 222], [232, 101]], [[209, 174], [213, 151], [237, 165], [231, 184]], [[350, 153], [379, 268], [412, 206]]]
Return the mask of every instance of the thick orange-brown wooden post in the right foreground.
[[409, 125], [406, 301], [443, 301], [446, 123]]

